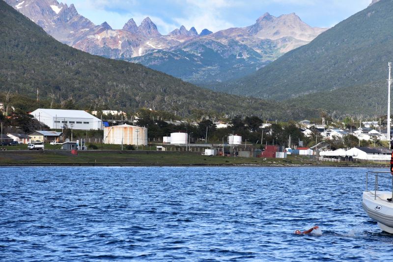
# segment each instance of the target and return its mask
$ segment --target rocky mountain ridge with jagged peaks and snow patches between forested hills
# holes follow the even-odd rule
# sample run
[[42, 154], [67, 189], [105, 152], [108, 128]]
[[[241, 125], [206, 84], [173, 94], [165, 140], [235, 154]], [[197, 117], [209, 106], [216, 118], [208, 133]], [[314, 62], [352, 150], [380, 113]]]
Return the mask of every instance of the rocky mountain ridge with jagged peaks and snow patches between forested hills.
[[[62, 43], [93, 55], [125, 59], [209, 87], [248, 75], [284, 53], [309, 43], [326, 29], [312, 28], [294, 13], [265, 13], [255, 24], [200, 34], [184, 26], [162, 35], [145, 18], [131, 18], [123, 29], [94, 25], [75, 6], [56, 0], [6, 0]], [[179, 61], [181, 61], [179, 63]]]

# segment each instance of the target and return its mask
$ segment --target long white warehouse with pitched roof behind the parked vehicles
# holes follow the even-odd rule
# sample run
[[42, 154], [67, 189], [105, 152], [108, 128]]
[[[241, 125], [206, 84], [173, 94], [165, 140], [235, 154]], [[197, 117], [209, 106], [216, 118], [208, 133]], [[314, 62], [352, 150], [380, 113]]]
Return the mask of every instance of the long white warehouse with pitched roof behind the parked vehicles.
[[78, 130], [101, 129], [101, 119], [83, 110], [39, 108], [31, 112], [30, 115], [51, 129], [64, 127]]

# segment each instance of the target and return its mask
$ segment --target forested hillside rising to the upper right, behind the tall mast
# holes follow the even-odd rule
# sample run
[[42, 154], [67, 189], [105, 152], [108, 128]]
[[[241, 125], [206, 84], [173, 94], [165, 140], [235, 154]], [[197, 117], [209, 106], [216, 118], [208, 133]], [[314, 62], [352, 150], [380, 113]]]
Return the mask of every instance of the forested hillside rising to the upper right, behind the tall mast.
[[393, 0], [380, 0], [308, 45], [216, 90], [273, 99], [297, 97], [292, 100], [297, 104], [373, 113], [374, 102], [386, 100], [392, 28]]

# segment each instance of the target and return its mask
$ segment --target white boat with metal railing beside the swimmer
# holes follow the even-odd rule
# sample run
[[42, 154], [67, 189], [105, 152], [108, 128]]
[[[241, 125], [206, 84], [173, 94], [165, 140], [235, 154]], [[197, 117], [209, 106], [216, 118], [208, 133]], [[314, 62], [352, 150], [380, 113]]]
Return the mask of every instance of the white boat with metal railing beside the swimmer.
[[[381, 185], [392, 186], [392, 191], [378, 191], [378, 180], [381, 180]], [[369, 182], [375, 182], [372, 190], [368, 190]], [[388, 198], [393, 198], [393, 176], [390, 172], [366, 172], [363, 209], [365, 209], [370, 218], [378, 222], [380, 229], [393, 234], [393, 203], [388, 201]]]

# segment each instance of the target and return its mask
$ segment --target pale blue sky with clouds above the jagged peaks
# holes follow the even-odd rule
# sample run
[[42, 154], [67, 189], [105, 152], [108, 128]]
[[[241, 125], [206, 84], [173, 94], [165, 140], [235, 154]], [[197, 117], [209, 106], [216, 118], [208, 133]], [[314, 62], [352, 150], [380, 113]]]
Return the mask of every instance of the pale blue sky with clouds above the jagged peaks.
[[[61, 1], [61, 0], [59, 0]], [[162, 34], [184, 25], [198, 32], [246, 27], [268, 12], [274, 16], [296, 13], [312, 27], [332, 27], [365, 9], [371, 0], [62, 0], [94, 24], [103, 22], [121, 29], [134, 18], [137, 25], [146, 17]]]

